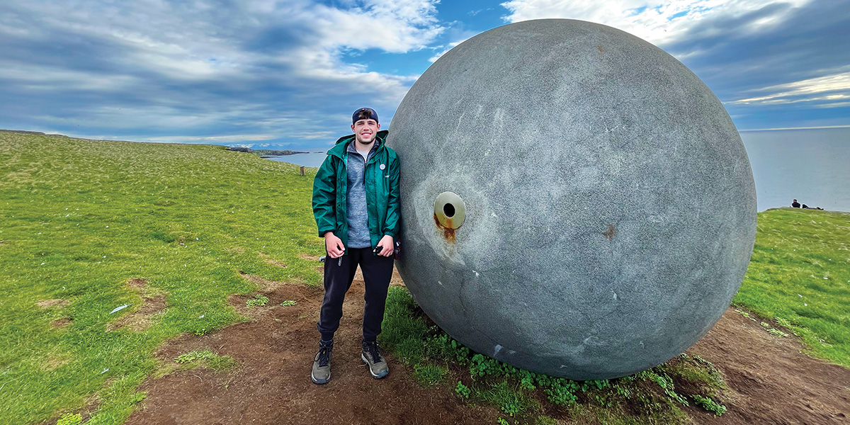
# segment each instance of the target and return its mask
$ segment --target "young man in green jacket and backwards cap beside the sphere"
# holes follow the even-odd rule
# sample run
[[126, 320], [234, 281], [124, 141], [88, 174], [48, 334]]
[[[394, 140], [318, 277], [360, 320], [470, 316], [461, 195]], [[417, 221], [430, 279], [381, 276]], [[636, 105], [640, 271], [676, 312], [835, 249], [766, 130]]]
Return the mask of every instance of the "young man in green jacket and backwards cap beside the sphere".
[[389, 373], [377, 346], [389, 280], [393, 249], [399, 232], [399, 160], [384, 145], [387, 131], [371, 108], [351, 117], [354, 134], [337, 140], [313, 181], [313, 213], [319, 235], [325, 238], [325, 299], [317, 327], [321, 339], [310, 378], [331, 379], [333, 333], [343, 316], [343, 299], [360, 265], [365, 281], [363, 351], [371, 376]]

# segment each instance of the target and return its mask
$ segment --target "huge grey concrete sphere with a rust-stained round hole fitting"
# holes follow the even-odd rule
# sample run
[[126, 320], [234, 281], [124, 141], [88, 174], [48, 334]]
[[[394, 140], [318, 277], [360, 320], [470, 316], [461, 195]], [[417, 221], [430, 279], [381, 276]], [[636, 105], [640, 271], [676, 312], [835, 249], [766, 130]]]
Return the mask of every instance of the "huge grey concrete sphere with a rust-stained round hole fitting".
[[626, 32], [530, 20], [473, 37], [413, 85], [388, 145], [402, 278], [497, 360], [641, 371], [705, 335], [744, 278], [756, 192], [740, 136], [699, 78]]

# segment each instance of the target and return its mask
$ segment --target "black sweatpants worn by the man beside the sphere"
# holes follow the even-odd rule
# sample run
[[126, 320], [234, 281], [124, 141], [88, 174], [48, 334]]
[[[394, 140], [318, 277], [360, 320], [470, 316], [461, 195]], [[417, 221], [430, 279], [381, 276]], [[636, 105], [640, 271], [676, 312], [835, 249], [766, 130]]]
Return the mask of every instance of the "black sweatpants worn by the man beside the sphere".
[[325, 341], [333, 338], [343, 317], [345, 292], [351, 287], [354, 273], [360, 264], [365, 281], [365, 311], [363, 312], [363, 339], [375, 341], [381, 333], [383, 309], [387, 303], [389, 280], [393, 277], [393, 257], [382, 257], [372, 249], [348, 248], [348, 255], [325, 259], [325, 299], [321, 303], [319, 323], [316, 326]]

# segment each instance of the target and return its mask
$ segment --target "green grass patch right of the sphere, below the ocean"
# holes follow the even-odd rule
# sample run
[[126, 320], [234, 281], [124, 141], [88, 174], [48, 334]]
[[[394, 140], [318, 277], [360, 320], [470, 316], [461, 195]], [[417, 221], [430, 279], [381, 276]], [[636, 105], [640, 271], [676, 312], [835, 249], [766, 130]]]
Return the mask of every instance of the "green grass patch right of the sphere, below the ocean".
[[850, 213], [759, 213], [734, 304], [769, 320], [766, 331], [783, 326], [802, 337], [808, 354], [850, 367]]

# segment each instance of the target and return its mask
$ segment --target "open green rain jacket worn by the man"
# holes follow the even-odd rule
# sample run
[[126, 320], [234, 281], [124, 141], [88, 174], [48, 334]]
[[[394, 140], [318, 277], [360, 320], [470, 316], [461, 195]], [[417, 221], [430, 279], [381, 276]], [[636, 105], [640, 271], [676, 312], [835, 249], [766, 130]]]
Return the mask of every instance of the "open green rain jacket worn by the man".
[[[366, 208], [369, 217], [371, 246], [377, 246], [383, 235], [394, 241], [399, 234], [399, 157], [395, 150], [384, 145], [387, 130], [377, 132], [377, 151], [366, 162]], [[348, 191], [348, 144], [354, 134], [337, 140], [327, 151], [325, 161], [313, 180], [313, 215], [319, 227], [319, 236], [333, 232], [348, 248], [348, 219], [346, 195]], [[348, 254], [348, 249], [346, 249]]]

